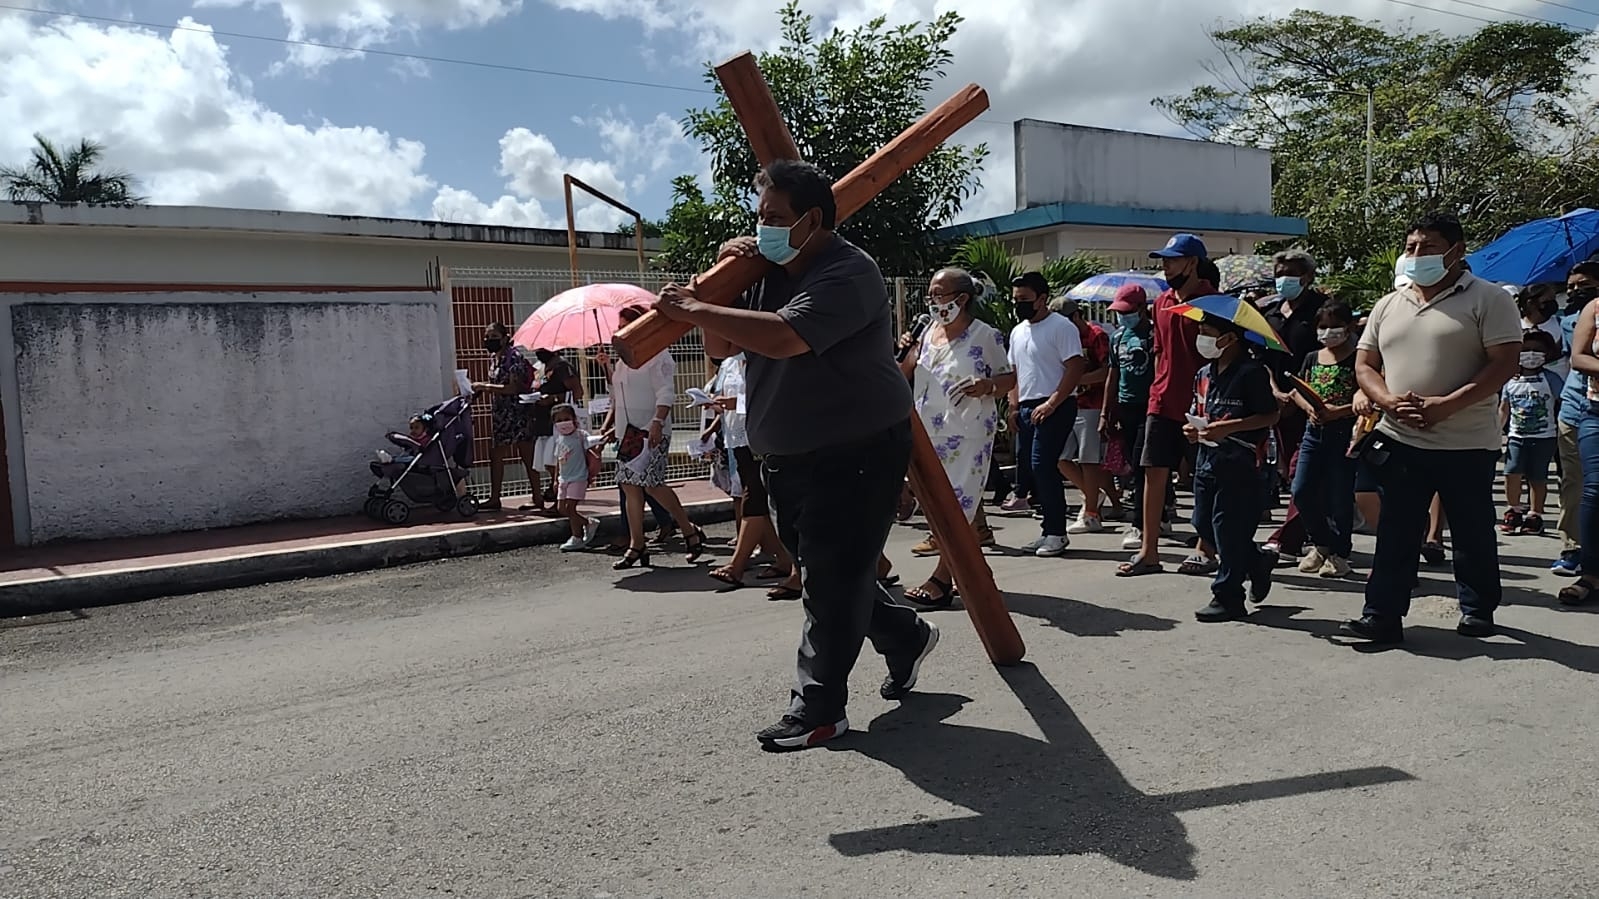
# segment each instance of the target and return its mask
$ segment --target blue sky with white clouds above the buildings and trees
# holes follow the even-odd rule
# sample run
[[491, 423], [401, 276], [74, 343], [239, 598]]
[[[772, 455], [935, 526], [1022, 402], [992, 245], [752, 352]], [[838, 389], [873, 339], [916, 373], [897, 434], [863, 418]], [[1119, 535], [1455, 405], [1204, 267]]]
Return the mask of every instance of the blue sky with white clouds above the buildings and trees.
[[[704, 62], [771, 45], [774, 6], [0, 0], [0, 162], [24, 160], [34, 131], [88, 136], [157, 203], [561, 227], [569, 171], [659, 216], [673, 176], [705, 171], [678, 126], [710, 99]], [[950, 83], [988, 88], [993, 109], [961, 138], [993, 157], [963, 219], [1011, 211], [1009, 122], [1174, 133], [1148, 101], [1202, 80], [1204, 29], [1294, 6], [1452, 32], [1513, 16], [1599, 27], [1599, 0], [806, 3], [843, 26], [967, 18]], [[588, 205], [579, 221], [619, 216]]]

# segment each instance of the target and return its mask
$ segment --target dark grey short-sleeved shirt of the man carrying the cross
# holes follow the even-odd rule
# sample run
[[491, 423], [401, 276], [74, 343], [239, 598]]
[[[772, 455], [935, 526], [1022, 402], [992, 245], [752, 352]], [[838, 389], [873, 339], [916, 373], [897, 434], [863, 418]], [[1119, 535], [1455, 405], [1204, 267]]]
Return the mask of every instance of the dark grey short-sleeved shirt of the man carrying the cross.
[[774, 267], [739, 304], [776, 312], [811, 347], [793, 358], [745, 354], [755, 453], [793, 456], [849, 445], [910, 418], [887, 288], [859, 246], [835, 235], [804, 274]]

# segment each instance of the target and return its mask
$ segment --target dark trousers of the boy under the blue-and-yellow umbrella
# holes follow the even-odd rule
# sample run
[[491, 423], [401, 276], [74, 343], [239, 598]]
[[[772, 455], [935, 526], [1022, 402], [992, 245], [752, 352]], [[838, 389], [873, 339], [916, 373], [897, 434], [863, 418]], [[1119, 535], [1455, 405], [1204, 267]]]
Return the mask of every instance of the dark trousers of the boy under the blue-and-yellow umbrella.
[[1244, 584], [1260, 568], [1260, 470], [1244, 464], [1207, 465], [1194, 472], [1194, 529], [1215, 547], [1210, 595], [1223, 605], [1244, 603]]

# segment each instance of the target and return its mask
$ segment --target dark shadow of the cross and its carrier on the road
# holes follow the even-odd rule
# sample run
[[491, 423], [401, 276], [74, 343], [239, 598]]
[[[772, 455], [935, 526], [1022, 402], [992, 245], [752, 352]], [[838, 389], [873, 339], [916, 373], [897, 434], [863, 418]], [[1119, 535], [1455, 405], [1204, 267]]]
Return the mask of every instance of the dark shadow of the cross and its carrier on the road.
[[1182, 811], [1410, 781], [1394, 768], [1354, 768], [1183, 793], [1145, 795], [1054, 686], [1030, 664], [999, 669], [1044, 731], [1044, 741], [1009, 731], [945, 723], [971, 702], [953, 694], [913, 694], [879, 715], [860, 752], [897, 768], [929, 793], [975, 816], [916, 821], [835, 833], [846, 856], [889, 851], [948, 856], [1067, 856], [1099, 853], [1170, 880], [1193, 880], [1196, 848]]

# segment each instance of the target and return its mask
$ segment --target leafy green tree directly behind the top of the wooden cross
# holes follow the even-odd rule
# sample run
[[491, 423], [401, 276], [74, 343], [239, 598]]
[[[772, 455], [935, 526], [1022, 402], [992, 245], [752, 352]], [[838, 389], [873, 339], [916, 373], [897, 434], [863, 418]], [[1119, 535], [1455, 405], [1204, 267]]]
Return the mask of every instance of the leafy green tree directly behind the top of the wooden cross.
[[[900, 27], [878, 18], [817, 37], [815, 19], [798, 0], [788, 0], [779, 21], [780, 45], [760, 56], [761, 72], [800, 155], [843, 178], [926, 112], [934, 82], [953, 59], [948, 45], [961, 18], [945, 13]], [[707, 80], [718, 99], [689, 110], [684, 131], [710, 155], [713, 184], [707, 194], [692, 178], [673, 182], [675, 202], [662, 222], [667, 250], [657, 262], [672, 270], [702, 270], [721, 242], [753, 230], [755, 154], [715, 72], [707, 70]], [[871, 253], [884, 272], [929, 270], [942, 248], [927, 232], [953, 219], [977, 190], [987, 154], [987, 146], [939, 147], [839, 232]]]

